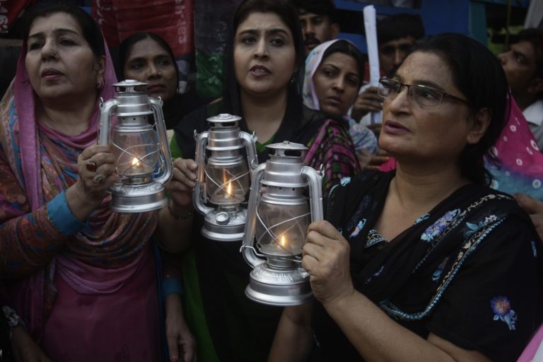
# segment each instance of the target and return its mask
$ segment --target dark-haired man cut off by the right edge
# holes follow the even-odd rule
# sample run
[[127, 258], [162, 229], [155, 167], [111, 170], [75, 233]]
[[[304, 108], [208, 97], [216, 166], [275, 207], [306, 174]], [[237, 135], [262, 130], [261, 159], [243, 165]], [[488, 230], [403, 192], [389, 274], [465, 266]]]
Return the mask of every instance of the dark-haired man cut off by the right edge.
[[521, 30], [518, 42], [498, 55], [511, 93], [543, 150], [543, 31]]

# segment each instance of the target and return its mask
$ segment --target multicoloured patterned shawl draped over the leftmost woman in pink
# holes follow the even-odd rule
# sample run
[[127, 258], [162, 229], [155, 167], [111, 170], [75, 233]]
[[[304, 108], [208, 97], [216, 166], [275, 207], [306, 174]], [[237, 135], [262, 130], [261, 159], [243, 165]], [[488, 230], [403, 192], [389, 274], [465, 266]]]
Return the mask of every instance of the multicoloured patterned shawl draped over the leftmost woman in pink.
[[[105, 86], [98, 96], [108, 100], [114, 95], [112, 84], [117, 78], [107, 46], [105, 49]], [[47, 243], [47, 238], [52, 234], [42, 230], [50, 229], [51, 225], [37, 226], [37, 231], [35, 228], [19, 230], [16, 221], [18, 218], [34, 220], [33, 214], [42, 211], [47, 202], [74, 185], [78, 177], [77, 157], [98, 137], [100, 110], [97, 97], [95, 112], [88, 121], [89, 127], [78, 136], [67, 136], [37, 122], [36, 95], [25, 69], [25, 55], [26, 45], [23, 44], [16, 78], [0, 104], [3, 130], [0, 132], [1, 149], [18, 181], [13, 189], [19, 193], [2, 203], [2, 207], [8, 210], [7, 214], [13, 216], [3, 221], [2, 228], [10, 234], [21, 235], [21, 243], [33, 247], [44, 241]], [[80, 293], [110, 293], [122, 286], [137, 271], [141, 264], [138, 261], [144, 259], [141, 250], [144, 250], [156, 228], [156, 212], [118, 214], [110, 211], [109, 202], [110, 196], [105, 197], [100, 208], [89, 216], [87, 225], [69, 236], [62, 252], [47, 267], [28, 276], [18, 286], [18, 312], [28, 322], [30, 332], [35, 337], [41, 336], [45, 317], [53, 307], [56, 269]], [[28, 214], [29, 211], [33, 214]], [[103, 268], [105, 274], [108, 269], [133, 267], [127, 268], [126, 273], [115, 281], [96, 285], [77, 275], [87, 265]]]

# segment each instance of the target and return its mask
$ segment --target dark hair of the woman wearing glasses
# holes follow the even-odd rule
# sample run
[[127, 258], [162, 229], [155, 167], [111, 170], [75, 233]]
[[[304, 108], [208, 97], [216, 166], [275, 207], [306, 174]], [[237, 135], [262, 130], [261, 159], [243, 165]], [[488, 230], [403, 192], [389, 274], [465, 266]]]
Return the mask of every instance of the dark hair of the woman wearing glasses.
[[460, 155], [462, 175], [479, 185], [490, 185], [484, 158], [498, 164], [491, 152], [508, 119], [508, 82], [501, 63], [489, 49], [465, 35], [445, 33], [418, 42], [411, 54], [436, 54], [448, 65], [452, 81], [465, 95], [472, 111], [488, 108], [491, 122], [477, 144], [465, 146]]

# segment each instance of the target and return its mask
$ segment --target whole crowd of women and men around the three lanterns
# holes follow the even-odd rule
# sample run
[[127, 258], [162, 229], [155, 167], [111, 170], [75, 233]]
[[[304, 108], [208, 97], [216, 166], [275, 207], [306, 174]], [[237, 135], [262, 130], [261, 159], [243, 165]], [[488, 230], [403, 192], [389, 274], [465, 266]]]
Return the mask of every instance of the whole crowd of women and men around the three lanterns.
[[[29, 11], [0, 103], [0, 361], [543, 356], [542, 30], [496, 57], [390, 16], [370, 87], [340, 25], [329, 0], [243, 0], [223, 95], [196, 110], [168, 42], [124, 39], [119, 78], [148, 83], [173, 132], [168, 207], [127, 214], [110, 209], [115, 156], [97, 142], [117, 83], [100, 27], [76, 6]], [[291, 141], [322, 170], [325, 220], [300, 255], [309, 303], [250, 300], [241, 240], [201, 233], [194, 132], [221, 113], [257, 136], [258, 163]], [[511, 173], [508, 152], [522, 153]]]

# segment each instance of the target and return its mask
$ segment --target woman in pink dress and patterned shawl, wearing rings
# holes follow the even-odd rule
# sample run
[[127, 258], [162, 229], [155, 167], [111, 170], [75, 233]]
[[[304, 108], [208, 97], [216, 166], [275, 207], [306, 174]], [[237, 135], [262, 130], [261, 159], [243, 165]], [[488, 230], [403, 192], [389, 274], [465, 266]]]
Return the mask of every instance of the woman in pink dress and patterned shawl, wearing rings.
[[27, 20], [0, 103], [1, 276], [18, 278], [16, 310], [53, 361], [158, 360], [151, 238], [181, 223], [109, 209], [115, 156], [96, 144], [98, 100], [116, 79], [98, 25], [62, 5]]

